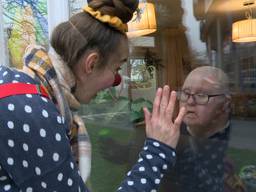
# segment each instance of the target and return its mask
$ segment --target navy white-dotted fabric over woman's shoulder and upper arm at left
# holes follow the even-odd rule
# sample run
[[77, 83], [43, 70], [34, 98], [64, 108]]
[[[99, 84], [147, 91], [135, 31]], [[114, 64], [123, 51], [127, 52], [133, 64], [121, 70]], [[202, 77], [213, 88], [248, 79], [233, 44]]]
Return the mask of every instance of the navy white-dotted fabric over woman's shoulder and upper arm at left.
[[[27, 75], [13, 71], [8, 68], [2, 70], [0, 83], [6, 83], [6, 78], [10, 77], [13, 79], [9, 83], [24, 82], [24, 78], [31, 80]], [[26, 83], [34, 84], [33, 81]], [[24, 94], [0, 99], [0, 109], [4, 109], [0, 115], [1, 155], [8, 151], [8, 155], [0, 159], [0, 191], [36, 192], [51, 189], [55, 192], [87, 192], [72, 162], [64, 118], [53, 102], [40, 95]], [[1, 164], [5, 164], [4, 169]], [[13, 178], [17, 183], [29, 180], [18, 188]], [[60, 185], [56, 185], [56, 182], [60, 182]]]

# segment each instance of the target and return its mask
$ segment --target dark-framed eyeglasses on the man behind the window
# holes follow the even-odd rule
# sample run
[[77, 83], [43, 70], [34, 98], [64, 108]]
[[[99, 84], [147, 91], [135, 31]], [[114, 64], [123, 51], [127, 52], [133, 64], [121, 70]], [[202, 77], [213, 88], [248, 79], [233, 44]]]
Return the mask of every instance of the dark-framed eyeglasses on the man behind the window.
[[209, 102], [209, 99], [211, 97], [217, 97], [217, 96], [222, 96], [225, 94], [214, 94], [214, 95], [208, 95], [205, 93], [195, 93], [191, 94], [186, 91], [178, 91], [177, 92], [177, 98], [181, 102], [187, 102], [187, 100], [190, 98], [190, 96], [193, 98], [196, 104], [198, 105], [206, 105]]

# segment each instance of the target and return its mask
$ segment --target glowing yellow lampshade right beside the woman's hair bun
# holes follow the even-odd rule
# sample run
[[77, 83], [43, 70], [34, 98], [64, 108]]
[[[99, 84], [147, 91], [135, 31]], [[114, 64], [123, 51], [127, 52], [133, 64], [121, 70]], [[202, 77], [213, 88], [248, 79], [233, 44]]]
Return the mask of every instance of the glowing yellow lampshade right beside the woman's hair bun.
[[129, 38], [147, 35], [156, 31], [156, 14], [153, 3], [139, 3], [141, 15], [133, 15], [132, 20], [128, 23], [127, 36]]

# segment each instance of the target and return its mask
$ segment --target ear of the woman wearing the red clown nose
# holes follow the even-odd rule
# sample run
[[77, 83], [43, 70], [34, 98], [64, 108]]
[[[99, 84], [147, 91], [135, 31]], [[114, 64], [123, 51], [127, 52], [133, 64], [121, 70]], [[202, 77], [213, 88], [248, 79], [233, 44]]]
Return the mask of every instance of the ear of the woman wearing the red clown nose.
[[91, 52], [84, 57], [83, 70], [85, 73], [90, 74], [96, 67], [99, 61], [99, 54], [97, 52]]

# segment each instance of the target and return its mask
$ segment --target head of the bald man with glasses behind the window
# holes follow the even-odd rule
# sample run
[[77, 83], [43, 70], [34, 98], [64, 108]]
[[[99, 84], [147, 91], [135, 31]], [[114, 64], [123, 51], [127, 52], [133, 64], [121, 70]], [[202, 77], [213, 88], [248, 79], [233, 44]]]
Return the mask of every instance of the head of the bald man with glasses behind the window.
[[228, 77], [219, 68], [204, 66], [193, 70], [179, 92], [180, 107], [187, 114], [184, 123], [191, 136], [209, 138], [229, 124]]

